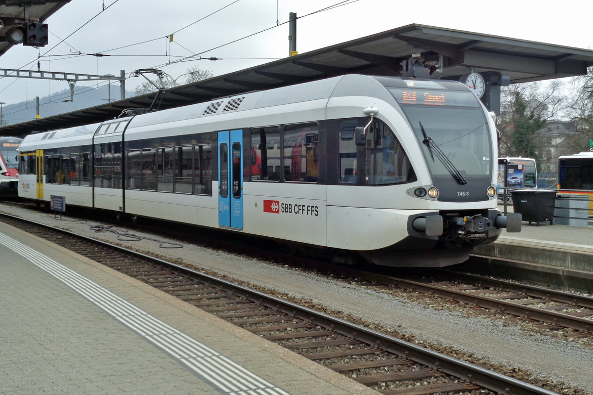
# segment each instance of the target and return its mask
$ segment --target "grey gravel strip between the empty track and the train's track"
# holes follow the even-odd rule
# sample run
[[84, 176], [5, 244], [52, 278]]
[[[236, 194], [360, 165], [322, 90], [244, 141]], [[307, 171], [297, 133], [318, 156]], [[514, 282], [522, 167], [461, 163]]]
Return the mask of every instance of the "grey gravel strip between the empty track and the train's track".
[[[129, 232], [146, 239], [119, 241], [113, 232], [91, 230], [98, 225], [96, 222], [76, 221], [67, 216], [59, 219], [2, 205], [0, 211], [133, 250], [146, 251], [162, 259], [177, 263], [183, 261], [196, 269], [211, 270], [255, 288], [275, 290], [280, 297], [291, 298], [307, 307], [341, 312], [346, 320], [363, 323], [371, 329], [455, 358], [482, 364], [560, 394], [593, 395], [593, 348], [588, 339], [584, 343], [569, 342], [538, 330], [526, 330], [525, 325], [522, 329], [504, 319], [471, 317], [463, 307], [456, 311], [454, 304], [443, 308], [442, 302], [435, 302], [425, 295], [416, 294], [410, 298], [409, 292], [396, 288], [390, 289], [390, 294], [387, 294], [356, 281], [271, 265], [224, 251], [190, 244], [183, 244], [183, 248], [179, 249], [163, 249], [159, 247], [160, 243], [155, 243], [155, 235], [135, 230]], [[178, 243], [158, 238], [165, 243]]]

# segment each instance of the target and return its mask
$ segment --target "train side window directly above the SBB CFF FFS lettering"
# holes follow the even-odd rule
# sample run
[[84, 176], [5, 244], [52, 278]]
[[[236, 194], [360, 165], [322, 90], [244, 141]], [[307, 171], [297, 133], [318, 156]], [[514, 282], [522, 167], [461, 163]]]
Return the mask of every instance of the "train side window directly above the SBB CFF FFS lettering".
[[317, 122], [284, 126], [284, 180], [317, 182], [319, 179]]

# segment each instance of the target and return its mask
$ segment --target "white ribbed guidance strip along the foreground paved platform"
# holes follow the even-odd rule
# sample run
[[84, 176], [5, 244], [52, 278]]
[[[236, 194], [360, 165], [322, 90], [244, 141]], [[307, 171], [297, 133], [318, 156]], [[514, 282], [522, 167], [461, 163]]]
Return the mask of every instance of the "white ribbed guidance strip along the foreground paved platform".
[[236, 362], [187, 336], [94, 281], [0, 233], [0, 243], [59, 279], [128, 329], [169, 355], [212, 386], [232, 394], [289, 395]]

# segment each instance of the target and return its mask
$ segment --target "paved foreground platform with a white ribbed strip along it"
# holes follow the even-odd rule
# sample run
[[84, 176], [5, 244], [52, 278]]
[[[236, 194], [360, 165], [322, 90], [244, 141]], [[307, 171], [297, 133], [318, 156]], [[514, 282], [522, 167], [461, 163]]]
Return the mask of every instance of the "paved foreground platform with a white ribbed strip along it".
[[0, 223], [1, 394], [377, 394]]

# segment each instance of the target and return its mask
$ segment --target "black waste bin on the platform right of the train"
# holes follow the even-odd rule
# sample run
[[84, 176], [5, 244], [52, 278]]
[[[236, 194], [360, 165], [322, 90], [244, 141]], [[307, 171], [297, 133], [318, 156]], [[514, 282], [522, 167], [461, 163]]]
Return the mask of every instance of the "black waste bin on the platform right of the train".
[[556, 191], [549, 189], [515, 189], [512, 190], [513, 211], [521, 214], [523, 221], [540, 222], [550, 221], [554, 224], [554, 205], [556, 204]]

